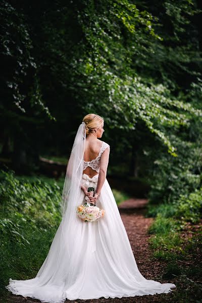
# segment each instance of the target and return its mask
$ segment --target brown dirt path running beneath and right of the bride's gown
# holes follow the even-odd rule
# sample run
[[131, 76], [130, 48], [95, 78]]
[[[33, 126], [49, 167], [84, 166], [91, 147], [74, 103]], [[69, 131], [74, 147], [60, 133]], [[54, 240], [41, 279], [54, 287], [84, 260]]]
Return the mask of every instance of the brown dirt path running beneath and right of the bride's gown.
[[[152, 251], [148, 247], [149, 235], [147, 229], [153, 222], [152, 218], [144, 218], [144, 209], [147, 203], [146, 199], [129, 199], [119, 205], [119, 211], [126, 228], [128, 238], [132, 247], [133, 254], [139, 271], [141, 274], [149, 280], [159, 281], [166, 283], [169, 281], [163, 281], [161, 276], [164, 265], [162, 262], [153, 260]], [[135, 297], [123, 297], [123, 298], [100, 298], [93, 300], [66, 300], [65, 302], [72, 303], [161, 303], [172, 302], [172, 293], [157, 294], [157, 295], [144, 295]], [[33, 303], [39, 302], [35, 299], [24, 298], [22, 296], [12, 295], [9, 298], [9, 303]]]

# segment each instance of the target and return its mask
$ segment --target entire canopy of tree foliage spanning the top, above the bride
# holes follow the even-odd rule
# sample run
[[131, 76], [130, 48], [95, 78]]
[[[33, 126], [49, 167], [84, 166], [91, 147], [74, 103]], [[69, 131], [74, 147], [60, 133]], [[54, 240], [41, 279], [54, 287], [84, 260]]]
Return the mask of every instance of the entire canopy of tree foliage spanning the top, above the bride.
[[140, 126], [177, 156], [169, 130], [186, 132], [191, 117], [201, 117], [186, 98], [191, 83], [200, 84], [196, 2], [60, 0], [46, 6], [2, 3], [2, 59], [11, 69], [2, 74], [8, 84], [3, 124], [12, 125], [6, 137], [16, 140], [17, 132], [20, 149], [22, 140], [37, 153], [48, 143], [63, 156], [64, 138], [70, 143], [83, 113], [95, 112], [109, 125], [108, 136], [120, 128], [136, 138]]

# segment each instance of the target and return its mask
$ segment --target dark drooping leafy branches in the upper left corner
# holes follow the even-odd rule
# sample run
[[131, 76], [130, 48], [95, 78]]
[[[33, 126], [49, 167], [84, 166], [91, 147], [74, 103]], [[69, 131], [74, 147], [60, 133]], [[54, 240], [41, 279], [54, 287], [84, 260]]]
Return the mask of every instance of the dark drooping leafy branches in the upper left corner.
[[[37, 105], [38, 110], [41, 108], [53, 119], [41, 99], [37, 64], [36, 59], [32, 57], [33, 42], [26, 16], [6, 0], [1, 3], [0, 16], [3, 20], [1, 60], [7, 70], [6, 78], [3, 78], [4, 103], [1, 108], [7, 109], [9, 117], [20, 118], [20, 111], [26, 112], [25, 106], [28, 101], [30, 107]], [[15, 111], [13, 104], [20, 111]]]

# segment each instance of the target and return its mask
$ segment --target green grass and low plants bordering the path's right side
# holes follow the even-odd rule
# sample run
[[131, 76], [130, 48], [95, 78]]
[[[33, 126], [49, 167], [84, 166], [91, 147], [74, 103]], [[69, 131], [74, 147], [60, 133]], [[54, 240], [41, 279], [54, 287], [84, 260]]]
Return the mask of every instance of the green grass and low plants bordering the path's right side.
[[[192, 222], [192, 218], [197, 218], [198, 222], [198, 211], [197, 215], [193, 215], [193, 208], [190, 208], [190, 211], [188, 208], [188, 199], [185, 203], [182, 197], [180, 199], [179, 208], [171, 204], [149, 206], [149, 213], [157, 216], [148, 230], [151, 234], [149, 242], [154, 251], [154, 258], [167, 264], [162, 279], [177, 286], [172, 294], [172, 302], [199, 303], [202, 286], [202, 227]], [[190, 204], [192, 205], [192, 201]], [[181, 210], [181, 206], [185, 208], [187, 215], [186, 218], [179, 219], [178, 209]]]

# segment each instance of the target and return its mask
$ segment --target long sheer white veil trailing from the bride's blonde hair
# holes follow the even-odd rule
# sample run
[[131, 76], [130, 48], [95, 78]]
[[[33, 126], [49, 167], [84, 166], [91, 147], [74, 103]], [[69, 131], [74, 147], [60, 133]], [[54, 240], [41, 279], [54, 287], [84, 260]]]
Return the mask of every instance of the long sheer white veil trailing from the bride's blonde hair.
[[54, 281], [56, 285], [57, 281], [60, 281], [58, 285], [60, 288], [71, 281], [71, 275], [81, 254], [76, 208], [81, 194], [85, 138], [85, 123], [82, 122], [75, 136], [67, 165], [61, 203], [62, 221], [48, 255], [36, 275], [36, 278], [42, 279], [43, 284]]

